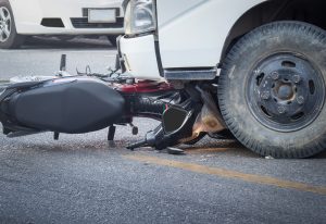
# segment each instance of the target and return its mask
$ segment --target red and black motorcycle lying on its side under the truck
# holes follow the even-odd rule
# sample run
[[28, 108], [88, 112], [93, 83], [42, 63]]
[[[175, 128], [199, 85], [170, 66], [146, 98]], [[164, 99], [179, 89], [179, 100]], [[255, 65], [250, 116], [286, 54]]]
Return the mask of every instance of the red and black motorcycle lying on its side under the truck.
[[[20, 137], [42, 132], [84, 134], [109, 127], [114, 139], [116, 125], [133, 125], [136, 116], [154, 119], [161, 124], [143, 140], [128, 149], [153, 147], [162, 150], [179, 144], [195, 144], [206, 134], [230, 136], [214, 102], [217, 87], [189, 82], [183, 88], [165, 82], [136, 80], [117, 70], [108, 75], [88, 69], [77, 76], [61, 72], [55, 77], [26, 79], [9, 85], [0, 95], [3, 134]], [[205, 90], [204, 90], [205, 89]], [[210, 89], [210, 91], [208, 91]]]

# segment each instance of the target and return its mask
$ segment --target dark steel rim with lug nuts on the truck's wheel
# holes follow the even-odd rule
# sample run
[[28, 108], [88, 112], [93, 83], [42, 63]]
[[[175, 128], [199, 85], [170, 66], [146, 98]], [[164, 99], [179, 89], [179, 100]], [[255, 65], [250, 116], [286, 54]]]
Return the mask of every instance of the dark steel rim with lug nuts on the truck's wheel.
[[254, 117], [278, 132], [311, 124], [325, 101], [322, 73], [299, 54], [277, 53], [262, 60], [247, 82], [247, 103]]

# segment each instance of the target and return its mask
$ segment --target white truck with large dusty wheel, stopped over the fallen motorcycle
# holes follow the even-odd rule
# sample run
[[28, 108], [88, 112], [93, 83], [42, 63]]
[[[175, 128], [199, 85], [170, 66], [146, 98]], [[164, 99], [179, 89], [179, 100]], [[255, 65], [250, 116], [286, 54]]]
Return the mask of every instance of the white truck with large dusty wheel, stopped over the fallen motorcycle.
[[326, 148], [326, 2], [127, 0], [122, 67], [216, 87], [227, 128], [262, 155]]

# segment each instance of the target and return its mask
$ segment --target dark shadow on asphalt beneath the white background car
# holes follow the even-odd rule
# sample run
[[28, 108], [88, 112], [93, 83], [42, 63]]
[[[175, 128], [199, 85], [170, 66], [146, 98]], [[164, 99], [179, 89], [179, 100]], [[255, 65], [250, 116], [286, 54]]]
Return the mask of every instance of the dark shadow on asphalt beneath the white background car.
[[79, 38], [61, 40], [57, 37], [28, 37], [21, 49], [40, 50], [40, 49], [67, 49], [67, 50], [85, 50], [85, 49], [116, 49], [105, 38]]

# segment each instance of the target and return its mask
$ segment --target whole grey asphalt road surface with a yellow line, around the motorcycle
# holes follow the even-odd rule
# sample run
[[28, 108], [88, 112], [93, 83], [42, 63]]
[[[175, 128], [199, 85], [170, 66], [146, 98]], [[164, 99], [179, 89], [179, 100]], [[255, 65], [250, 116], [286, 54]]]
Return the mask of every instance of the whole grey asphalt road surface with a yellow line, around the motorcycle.
[[[24, 48], [0, 50], [0, 79], [52, 74], [62, 52], [68, 67], [97, 70], [113, 65], [115, 54], [105, 42], [86, 40]], [[209, 138], [181, 146], [185, 155], [131, 152], [125, 146], [158, 125], [135, 124], [139, 135], [118, 127], [115, 146], [106, 130], [59, 141], [51, 133], [0, 135], [0, 223], [326, 223], [326, 153], [265, 159], [234, 140]]]

